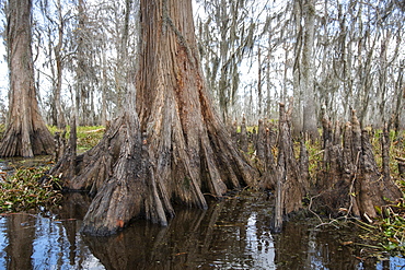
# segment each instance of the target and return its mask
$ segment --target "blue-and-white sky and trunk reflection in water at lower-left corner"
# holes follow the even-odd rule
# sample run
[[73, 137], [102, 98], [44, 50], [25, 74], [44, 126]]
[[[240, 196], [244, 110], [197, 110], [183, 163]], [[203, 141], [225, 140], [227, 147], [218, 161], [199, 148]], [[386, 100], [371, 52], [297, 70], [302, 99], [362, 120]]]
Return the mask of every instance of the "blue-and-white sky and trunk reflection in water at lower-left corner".
[[[80, 223], [80, 221], [71, 221]], [[0, 269], [104, 269], [76, 232], [69, 242], [68, 222], [31, 214], [0, 219]]]

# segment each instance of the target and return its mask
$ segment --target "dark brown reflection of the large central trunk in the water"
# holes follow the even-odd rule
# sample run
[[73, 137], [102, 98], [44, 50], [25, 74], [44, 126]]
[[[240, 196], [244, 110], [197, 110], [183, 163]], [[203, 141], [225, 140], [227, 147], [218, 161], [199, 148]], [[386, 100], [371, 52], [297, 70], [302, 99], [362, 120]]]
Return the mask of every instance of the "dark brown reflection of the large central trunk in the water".
[[[85, 237], [107, 269], [271, 269], [271, 236], [246, 200], [176, 210], [167, 227], [137, 222], [115, 237]], [[130, 247], [130, 248], [128, 248]]]

